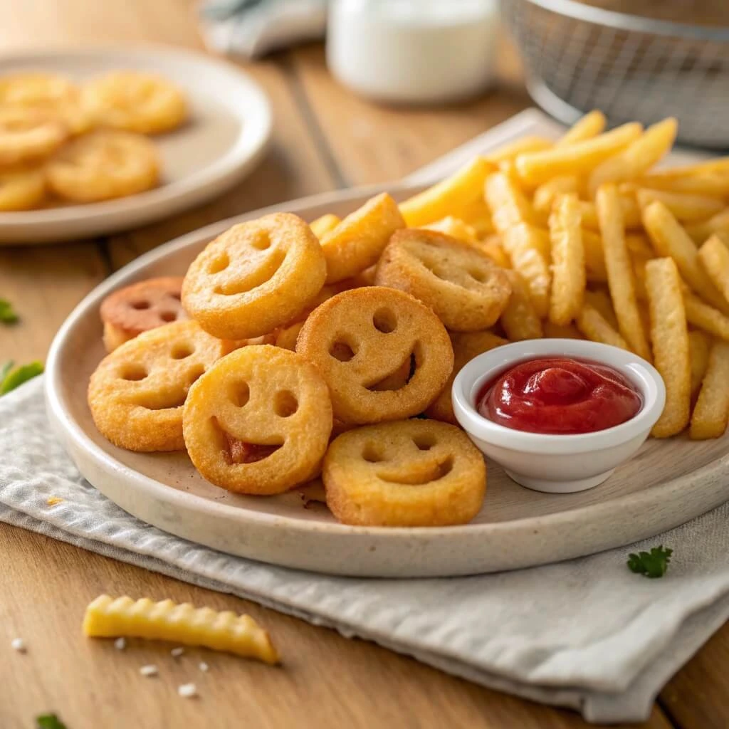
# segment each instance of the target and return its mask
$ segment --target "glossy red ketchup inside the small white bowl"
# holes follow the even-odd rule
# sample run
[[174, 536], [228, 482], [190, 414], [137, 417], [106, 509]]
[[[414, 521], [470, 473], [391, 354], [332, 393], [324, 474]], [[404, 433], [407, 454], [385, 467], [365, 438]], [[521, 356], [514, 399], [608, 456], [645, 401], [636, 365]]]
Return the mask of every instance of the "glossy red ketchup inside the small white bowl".
[[636, 388], [612, 367], [568, 357], [520, 362], [478, 394], [480, 415], [530, 433], [593, 433], [625, 423], [642, 408]]

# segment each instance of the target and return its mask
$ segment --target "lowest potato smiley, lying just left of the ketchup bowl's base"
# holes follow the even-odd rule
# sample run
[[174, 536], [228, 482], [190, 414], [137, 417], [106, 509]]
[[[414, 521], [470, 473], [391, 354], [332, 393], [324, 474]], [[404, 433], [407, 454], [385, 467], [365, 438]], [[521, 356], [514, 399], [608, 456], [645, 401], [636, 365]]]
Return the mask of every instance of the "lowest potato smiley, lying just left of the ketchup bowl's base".
[[448, 526], [479, 512], [486, 463], [459, 428], [403, 420], [335, 438], [324, 459], [332, 514], [359, 526]]

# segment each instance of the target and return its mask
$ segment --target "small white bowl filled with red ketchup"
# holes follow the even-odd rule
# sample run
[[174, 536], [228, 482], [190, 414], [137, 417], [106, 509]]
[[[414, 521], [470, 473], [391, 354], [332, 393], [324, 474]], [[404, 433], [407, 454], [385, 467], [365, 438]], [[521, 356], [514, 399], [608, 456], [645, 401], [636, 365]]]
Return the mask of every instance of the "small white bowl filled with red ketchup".
[[631, 352], [572, 339], [492, 349], [456, 375], [453, 411], [522, 486], [566, 494], [606, 480], [663, 412], [658, 371]]

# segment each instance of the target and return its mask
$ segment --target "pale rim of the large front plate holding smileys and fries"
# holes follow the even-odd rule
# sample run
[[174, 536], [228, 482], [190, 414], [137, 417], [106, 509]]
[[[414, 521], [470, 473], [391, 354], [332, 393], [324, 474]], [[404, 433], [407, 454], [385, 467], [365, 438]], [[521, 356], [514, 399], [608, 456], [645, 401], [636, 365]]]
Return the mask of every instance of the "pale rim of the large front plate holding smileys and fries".
[[[581, 507], [574, 507], [563, 511], [550, 512], [546, 515], [533, 517], [525, 517], [512, 519], [503, 522], [486, 522], [486, 523], [467, 523], [456, 526], [434, 526], [434, 527], [383, 527], [383, 526], [349, 526], [337, 522], [313, 522], [303, 519], [297, 519], [290, 516], [269, 514], [266, 512], [256, 512], [248, 510], [245, 507], [233, 506], [220, 502], [214, 502], [187, 491], [176, 488], [170, 488], [147, 475], [144, 475], [120, 461], [114, 459], [112, 454], [104, 451], [103, 448], [96, 445], [90, 437], [85, 434], [81, 426], [74, 421], [71, 413], [63, 407], [61, 397], [61, 371], [58, 363], [63, 354], [63, 347], [69, 332], [74, 329], [77, 321], [87, 314], [89, 308], [98, 306], [101, 299], [116, 288], [121, 281], [128, 279], [133, 280], [133, 276], [147, 267], [147, 265], [157, 262], [171, 254], [195, 244], [205, 241], [214, 235], [217, 235], [225, 228], [234, 225], [237, 222], [243, 222], [246, 219], [260, 217], [262, 214], [276, 212], [281, 210], [289, 210], [291, 208], [309, 208], [313, 206], [322, 206], [330, 203], [343, 202], [349, 199], [357, 199], [364, 195], [370, 195], [379, 190], [386, 188], [390, 191], [418, 190], [422, 185], [413, 185], [408, 183], [399, 183], [394, 185], [373, 185], [366, 187], [355, 187], [348, 190], [338, 190], [334, 192], [324, 192], [318, 195], [310, 195], [297, 200], [290, 200], [285, 203], [277, 203], [273, 206], [260, 208], [245, 214], [227, 218], [225, 220], [206, 225], [205, 227], [193, 230], [190, 233], [174, 238], [162, 246], [141, 255], [133, 260], [125, 267], [118, 270], [112, 276], [107, 278], [101, 284], [92, 289], [91, 292], [71, 311], [66, 321], [63, 322], [53, 339], [50, 351], [47, 356], [47, 377], [45, 378], [44, 388], [46, 393], [47, 408], [49, 410], [52, 421], [62, 429], [63, 436], [70, 437], [79, 447], [81, 447], [87, 455], [93, 459], [95, 467], [99, 469], [121, 473], [125, 478], [132, 480], [142, 488], [149, 491], [151, 496], [162, 502], [167, 502], [171, 507], [182, 507], [185, 510], [200, 511], [210, 516], [219, 516], [221, 518], [233, 518], [235, 521], [245, 523], [251, 521], [257, 525], [277, 526], [291, 529], [293, 531], [303, 531], [311, 533], [312, 531], [324, 532], [327, 534], [342, 536], [349, 534], [352, 536], [377, 536], [391, 537], [391, 539], [405, 539], [413, 537], [453, 537], [468, 534], [470, 537], [476, 537], [479, 533], [488, 532], [489, 534], [499, 534], [502, 531], [512, 531], [513, 529], [529, 528], [539, 529], [545, 522], [549, 526], [555, 528], [559, 526], [569, 526], [575, 519], [585, 512], [590, 512], [593, 518], [604, 518], [612, 513], [623, 512], [626, 508], [631, 511], [636, 507], [647, 507], [652, 504], [660, 504], [665, 501], [668, 496], [676, 491], [683, 491], [693, 486], [699, 479], [711, 477], [715, 472], [724, 469], [729, 463], [729, 448], [727, 452], [714, 459], [706, 466], [696, 469], [690, 474], [681, 477], [675, 477], [664, 483], [656, 484], [642, 491], [635, 491], [631, 494], [616, 496], [607, 499], [604, 502], [597, 502]], [[488, 486], [487, 486], [488, 488]], [[295, 489], [292, 489], [295, 491]], [[558, 496], [557, 496], [558, 498]]]

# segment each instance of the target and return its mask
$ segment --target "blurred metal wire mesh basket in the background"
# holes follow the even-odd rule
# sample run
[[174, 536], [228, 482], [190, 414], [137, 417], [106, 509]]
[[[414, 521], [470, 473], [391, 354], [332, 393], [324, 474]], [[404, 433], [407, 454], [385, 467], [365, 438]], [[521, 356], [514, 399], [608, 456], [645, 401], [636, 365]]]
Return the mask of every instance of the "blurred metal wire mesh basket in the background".
[[679, 140], [729, 147], [729, 28], [650, 20], [574, 0], [502, 0], [531, 98], [572, 123], [673, 116]]

